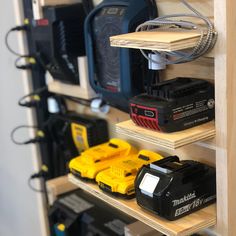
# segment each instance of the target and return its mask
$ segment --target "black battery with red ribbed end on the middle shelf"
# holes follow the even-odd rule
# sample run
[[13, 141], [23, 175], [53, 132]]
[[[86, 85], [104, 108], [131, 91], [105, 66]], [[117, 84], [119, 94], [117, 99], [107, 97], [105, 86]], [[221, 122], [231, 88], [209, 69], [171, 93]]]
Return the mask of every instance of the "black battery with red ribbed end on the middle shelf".
[[130, 99], [130, 117], [138, 126], [161, 132], [206, 123], [215, 117], [214, 85], [182, 77], [160, 82], [151, 94]]

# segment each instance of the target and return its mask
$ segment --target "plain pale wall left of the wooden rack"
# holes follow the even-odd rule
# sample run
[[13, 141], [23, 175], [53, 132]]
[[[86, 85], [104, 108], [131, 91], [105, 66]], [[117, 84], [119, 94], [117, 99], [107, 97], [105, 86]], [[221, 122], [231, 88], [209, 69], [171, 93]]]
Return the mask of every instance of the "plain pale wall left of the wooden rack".
[[[4, 0], [0, 7], [0, 235], [43, 236], [42, 198], [27, 186], [28, 177], [37, 167], [35, 148], [10, 141], [10, 131], [27, 124], [29, 117], [27, 109], [17, 106], [28, 78], [14, 68], [15, 56], [4, 46], [5, 32], [16, 24], [13, 4], [17, 2], [21, 1]], [[14, 48], [19, 45], [17, 36], [13, 33], [11, 37]]]

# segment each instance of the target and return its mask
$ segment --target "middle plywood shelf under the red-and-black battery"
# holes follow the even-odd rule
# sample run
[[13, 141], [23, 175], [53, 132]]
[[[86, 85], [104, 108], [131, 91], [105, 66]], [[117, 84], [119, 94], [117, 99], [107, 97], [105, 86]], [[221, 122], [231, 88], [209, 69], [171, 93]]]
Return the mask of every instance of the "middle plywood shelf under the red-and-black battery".
[[128, 120], [116, 124], [116, 131], [120, 134], [172, 150], [215, 136], [214, 122], [208, 122], [180, 132], [161, 133], [139, 127], [131, 120]]

